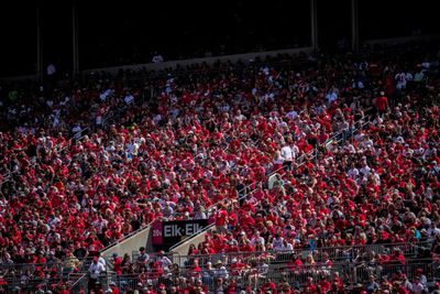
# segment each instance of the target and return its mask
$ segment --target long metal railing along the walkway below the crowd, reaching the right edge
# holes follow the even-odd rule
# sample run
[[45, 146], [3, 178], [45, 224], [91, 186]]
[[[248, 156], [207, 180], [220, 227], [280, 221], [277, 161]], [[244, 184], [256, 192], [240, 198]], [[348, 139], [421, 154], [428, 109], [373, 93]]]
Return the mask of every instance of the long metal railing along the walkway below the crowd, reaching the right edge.
[[[267, 282], [279, 284], [286, 282], [293, 287], [304, 287], [311, 277], [314, 283], [319, 283], [323, 279], [332, 281], [334, 276], [340, 276], [344, 286], [352, 288], [355, 284], [364, 284], [369, 281], [369, 276], [374, 274], [378, 280], [387, 277], [391, 280], [397, 274], [406, 274], [409, 281], [414, 281], [418, 272], [427, 277], [428, 283], [433, 283], [439, 280], [440, 264], [431, 259], [410, 260], [405, 263], [385, 263], [372, 266], [354, 263], [337, 263], [333, 265], [302, 265], [300, 268], [288, 266], [246, 266], [243, 269], [233, 269], [224, 266], [228, 274], [223, 277], [221, 284], [230, 285], [234, 283], [239, 288], [246, 287], [261, 288]], [[157, 287], [160, 284], [169, 286], [184, 286], [188, 281], [201, 280], [202, 286], [208, 291], [215, 291], [219, 286], [218, 277], [226, 274], [222, 270], [194, 271], [193, 269], [179, 269], [178, 271], [166, 270], [165, 272], [145, 271], [143, 273], [121, 274], [107, 273], [102, 276], [107, 284], [114, 282], [121, 291], [140, 290], [148, 284], [152, 287]], [[140, 284], [140, 285], [139, 285]]]

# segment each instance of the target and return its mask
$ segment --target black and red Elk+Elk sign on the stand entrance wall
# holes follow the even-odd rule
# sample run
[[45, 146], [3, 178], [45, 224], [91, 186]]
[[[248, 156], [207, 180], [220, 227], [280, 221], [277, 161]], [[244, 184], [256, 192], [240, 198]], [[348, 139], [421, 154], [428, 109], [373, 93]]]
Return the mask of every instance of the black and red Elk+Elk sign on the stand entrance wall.
[[156, 221], [153, 224], [153, 244], [173, 246], [208, 226], [207, 219]]

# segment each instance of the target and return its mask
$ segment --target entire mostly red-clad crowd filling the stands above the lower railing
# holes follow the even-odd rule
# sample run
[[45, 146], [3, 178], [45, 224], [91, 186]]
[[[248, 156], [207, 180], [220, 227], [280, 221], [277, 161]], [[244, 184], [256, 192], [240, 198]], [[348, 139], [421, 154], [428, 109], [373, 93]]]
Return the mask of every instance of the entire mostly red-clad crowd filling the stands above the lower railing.
[[145, 85], [118, 79], [2, 92], [18, 127], [0, 133], [0, 265], [81, 260], [156, 219], [212, 217], [217, 232], [191, 254], [439, 242], [437, 61], [409, 51], [169, 72], [148, 81], [153, 107]]

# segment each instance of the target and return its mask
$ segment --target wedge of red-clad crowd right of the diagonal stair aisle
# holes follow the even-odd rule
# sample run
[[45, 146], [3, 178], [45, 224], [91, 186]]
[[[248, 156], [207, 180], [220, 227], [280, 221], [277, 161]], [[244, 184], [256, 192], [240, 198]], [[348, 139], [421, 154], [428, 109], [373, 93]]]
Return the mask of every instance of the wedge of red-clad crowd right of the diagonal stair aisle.
[[433, 240], [438, 119], [437, 107], [409, 101], [377, 115], [353, 140], [286, 168], [273, 190], [260, 187], [230, 214], [220, 210], [218, 231], [230, 233], [207, 240], [208, 252]]

